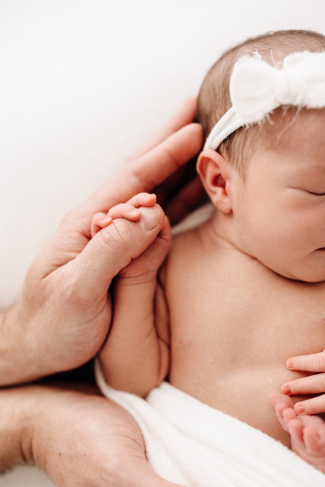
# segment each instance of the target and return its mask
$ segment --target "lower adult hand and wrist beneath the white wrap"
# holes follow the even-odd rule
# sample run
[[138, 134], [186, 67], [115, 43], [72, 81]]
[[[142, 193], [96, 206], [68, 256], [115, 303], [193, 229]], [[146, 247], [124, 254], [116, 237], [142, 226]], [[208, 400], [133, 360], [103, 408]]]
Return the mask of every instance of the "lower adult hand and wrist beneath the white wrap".
[[58, 487], [177, 487], [148, 465], [134, 419], [96, 391], [3, 390], [0, 438], [1, 471], [35, 463]]

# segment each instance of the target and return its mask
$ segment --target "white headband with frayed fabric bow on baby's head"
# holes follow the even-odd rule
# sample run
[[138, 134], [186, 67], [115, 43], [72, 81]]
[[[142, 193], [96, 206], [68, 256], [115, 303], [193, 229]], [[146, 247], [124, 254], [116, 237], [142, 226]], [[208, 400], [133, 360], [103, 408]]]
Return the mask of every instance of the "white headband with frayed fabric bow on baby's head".
[[281, 105], [325, 107], [325, 52], [289, 54], [282, 69], [258, 53], [242, 56], [233, 67], [229, 91], [232, 107], [211, 130], [204, 150], [216, 150], [230, 133], [262, 122]]

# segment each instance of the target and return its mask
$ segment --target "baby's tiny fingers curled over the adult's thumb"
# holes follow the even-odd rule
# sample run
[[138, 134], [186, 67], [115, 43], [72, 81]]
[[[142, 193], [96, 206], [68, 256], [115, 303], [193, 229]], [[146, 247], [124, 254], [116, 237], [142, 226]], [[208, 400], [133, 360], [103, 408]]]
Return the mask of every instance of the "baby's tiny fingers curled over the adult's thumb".
[[[126, 218], [133, 222], [139, 221], [141, 217], [140, 206], [150, 207], [155, 205], [156, 195], [149, 193], [139, 193], [133, 196], [126, 203], [121, 203], [119, 205], [110, 208], [108, 213], [96, 213], [93, 218], [91, 225], [92, 237], [96, 235], [101, 228], [105, 228], [110, 225], [115, 218]], [[141, 222], [139, 222], [141, 225]]]

